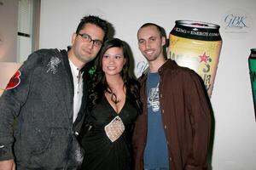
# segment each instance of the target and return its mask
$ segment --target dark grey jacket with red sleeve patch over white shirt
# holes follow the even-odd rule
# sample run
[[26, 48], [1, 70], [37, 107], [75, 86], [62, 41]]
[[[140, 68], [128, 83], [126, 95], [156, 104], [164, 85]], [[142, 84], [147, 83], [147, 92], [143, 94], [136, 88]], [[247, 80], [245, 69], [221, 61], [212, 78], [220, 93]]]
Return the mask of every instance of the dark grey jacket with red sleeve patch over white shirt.
[[[85, 88], [84, 82], [84, 99]], [[66, 50], [31, 54], [0, 98], [0, 160], [15, 158], [18, 169], [76, 169], [83, 153], [74, 125], [83, 117], [84, 102], [73, 123], [73, 77]]]

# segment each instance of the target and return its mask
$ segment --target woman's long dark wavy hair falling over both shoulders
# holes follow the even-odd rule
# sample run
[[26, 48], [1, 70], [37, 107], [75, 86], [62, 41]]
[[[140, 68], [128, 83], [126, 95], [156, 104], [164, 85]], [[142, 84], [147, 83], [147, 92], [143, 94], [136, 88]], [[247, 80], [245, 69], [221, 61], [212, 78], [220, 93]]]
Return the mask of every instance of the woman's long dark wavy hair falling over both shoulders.
[[140, 84], [137, 79], [131, 76], [130, 73], [130, 56], [128, 54], [128, 47], [125, 42], [118, 38], [110, 39], [104, 42], [102, 50], [99, 56], [96, 58], [96, 72], [94, 81], [90, 83], [89, 87], [89, 99], [88, 99], [88, 111], [91, 111], [101, 100], [106, 91], [109, 91], [108, 82], [105, 77], [105, 73], [102, 71], [102, 57], [109, 48], [123, 48], [125, 65], [120, 72], [120, 76], [124, 81], [124, 88], [126, 88], [126, 98], [131, 101], [139, 113], [142, 112], [142, 102], [140, 100]]

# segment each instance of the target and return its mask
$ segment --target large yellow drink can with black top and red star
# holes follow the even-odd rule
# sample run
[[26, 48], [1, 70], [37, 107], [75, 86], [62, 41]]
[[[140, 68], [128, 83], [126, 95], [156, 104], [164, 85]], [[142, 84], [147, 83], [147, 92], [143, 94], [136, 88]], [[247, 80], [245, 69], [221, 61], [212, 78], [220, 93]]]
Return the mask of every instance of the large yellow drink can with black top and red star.
[[219, 26], [193, 20], [176, 20], [169, 36], [167, 57], [177, 65], [189, 67], [203, 80], [212, 95], [218, 58], [222, 47]]

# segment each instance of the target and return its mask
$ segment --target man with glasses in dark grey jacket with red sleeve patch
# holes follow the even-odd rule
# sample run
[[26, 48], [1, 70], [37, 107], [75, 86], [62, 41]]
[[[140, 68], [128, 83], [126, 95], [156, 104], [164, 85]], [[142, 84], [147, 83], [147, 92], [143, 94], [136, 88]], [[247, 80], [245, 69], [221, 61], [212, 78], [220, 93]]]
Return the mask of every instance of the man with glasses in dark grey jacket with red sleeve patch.
[[108, 22], [85, 16], [66, 50], [32, 53], [0, 98], [0, 169], [77, 169], [76, 139], [87, 98], [86, 65], [96, 58]]

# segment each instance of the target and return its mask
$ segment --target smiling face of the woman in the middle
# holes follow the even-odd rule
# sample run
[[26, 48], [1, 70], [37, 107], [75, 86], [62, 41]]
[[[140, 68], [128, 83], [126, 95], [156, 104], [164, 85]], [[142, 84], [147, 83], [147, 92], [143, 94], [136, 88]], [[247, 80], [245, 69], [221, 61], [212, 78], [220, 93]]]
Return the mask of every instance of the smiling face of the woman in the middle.
[[123, 48], [108, 48], [102, 56], [102, 71], [106, 77], [120, 75], [125, 65]]

